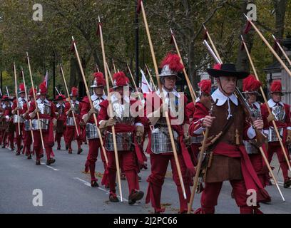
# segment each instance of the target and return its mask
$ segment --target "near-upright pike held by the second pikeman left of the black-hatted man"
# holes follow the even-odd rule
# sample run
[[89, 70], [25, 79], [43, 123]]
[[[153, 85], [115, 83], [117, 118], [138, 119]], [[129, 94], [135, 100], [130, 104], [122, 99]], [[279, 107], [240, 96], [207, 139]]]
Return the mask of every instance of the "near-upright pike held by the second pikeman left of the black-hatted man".
[[[109, 116], [110, 116], [110, 118], [113, 118], [113, 107], [112, 107], [110, 91], [109, 91], [108, 71], [106, 71], [106, 56], [105, 56], [105, 48], [104, 48], [104, 41], [103, 41], [103, 33], [102, 33], [100, 16], [98, 16], [98, 30], [99, 30], [99, 35], [100, 35], [103, 65], [104, 65], [104, 72], [105, 72], [105, 78], [106, 78], [106, 88], [107, 88], [108, 103], [109, 103], [109, 105], [108, 105]], [[123, 202], [122, 189], [121, 189], [121, 170], [119, 168], [119, 159], [118, 159], [118, 151], [117, 151], [117, 144], [116, 144], [116, 131], [115, 131], [114, 125], [111, 127], [111, 131], [112, 131], [112, 138], [113, 138], [114, 156], [115, 156], [115, 160], [116, 160], [118, 190], [119, 190], [119, 195], [121, 196], [121, 202]]]

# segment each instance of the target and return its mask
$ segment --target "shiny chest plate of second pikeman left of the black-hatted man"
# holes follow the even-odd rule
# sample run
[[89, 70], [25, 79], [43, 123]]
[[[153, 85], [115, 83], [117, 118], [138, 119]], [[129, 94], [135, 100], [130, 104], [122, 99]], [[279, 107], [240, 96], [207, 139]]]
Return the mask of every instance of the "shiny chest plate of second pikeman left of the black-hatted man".
[[134, 118], [130, 113], [130, 105], [125, 105], [121, 103], [113, 103], [113, 115], [117, 123], [123, 123], [127, 125], [134, 125]]

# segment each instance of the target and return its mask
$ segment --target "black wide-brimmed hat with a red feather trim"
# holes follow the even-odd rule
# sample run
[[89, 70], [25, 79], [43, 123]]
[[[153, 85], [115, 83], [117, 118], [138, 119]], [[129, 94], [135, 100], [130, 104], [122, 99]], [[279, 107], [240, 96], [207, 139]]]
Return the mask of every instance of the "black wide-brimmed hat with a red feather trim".
[[207, 72], [210, 76], [214, 78], [219, 77], [236, 77], [238, 79], [247, 78], [250, 73], [245, 71], [237, 71], [235, 68], [235, 64], [233, 63], [223, 63], [223, 64], [216, 64], [214, 68], [208, 68]]

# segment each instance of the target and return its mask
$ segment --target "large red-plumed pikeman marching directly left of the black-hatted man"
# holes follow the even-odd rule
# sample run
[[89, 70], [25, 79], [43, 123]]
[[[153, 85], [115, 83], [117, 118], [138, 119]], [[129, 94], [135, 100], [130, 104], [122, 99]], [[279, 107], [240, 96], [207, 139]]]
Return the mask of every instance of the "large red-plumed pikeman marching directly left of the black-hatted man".
[[[148, 132], [147, 152], [150, 154], [151, 173], [148, 177], [148, 192], [146, 203], [151, 202], [155, 213], [165, 211], [160, 205], [160, 196], [162, 192], [165, 173], [170, 162], [173, 173], [173, 180], [177, 185], [180, 213], [187, 212], [187, 205], [190, 199], [190, 176], [194, 174], [194, 166], [191, 161], [189, 152], [185, 145], [184, 139], [188, 138], [189, 120], [186, 113], [187, 98], [175, 90], [175, 83], [178, 79], [178, 73], [183, 71], [183, 64], [180, 63], [180, 57], [176, 54], [169, 53], [161, 64], [160, 81], [163, 84], [163, 94], [165, 104], [169, 109], [170, 124], [173, 129], [173, 136], [176, 142], [178, 160], [185, 185], [187, 199], [183, 197], [182, 187], [178, 178], [178, 170], [175, 165], [173, 147], [170, 143], [170, 135], [165, 117], [162, 115], [161, 91], [158, 90], [146, 97], [146, 115], [150, 124], [154, 126], [153, 130]], [[178, 115], [177, 115], [178, 114]]]

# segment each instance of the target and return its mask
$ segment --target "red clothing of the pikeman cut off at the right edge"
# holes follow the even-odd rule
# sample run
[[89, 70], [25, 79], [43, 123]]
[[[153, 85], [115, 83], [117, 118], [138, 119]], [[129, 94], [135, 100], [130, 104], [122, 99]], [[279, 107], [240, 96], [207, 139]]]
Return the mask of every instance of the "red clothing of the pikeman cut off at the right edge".
[[[285, 108], [285, 122], [281, 122], [281, 121], [277, 121], [275, 120], [275, 123], [277, 125], [277, 128], [283, 128], [283, 136], [282, 136], [282, 142], [283, 145], [285, 145], [285, 151], [287, 153], [287, 158], [288, 160], [290, 160], [290, 155], [289, 152], [287, 150], [287, 146], [286, 146], [286, 138], [287, 138], [287, 128], [291, 127], [291, 122], [290, 122], [290, 105], [284, 104], [284, 108]], [[267, 110], [267, 106], [265, 104], [262, 105], [262, 116], [267, 118], [267, 116], [269, 115], [268, 110]], [[273, 127], [272, 122], [267, 123], [267, 125], [264, 126], [265, 130], [267, 130], [268, 128], [270, 128], [270, 126]], [[290, 177], [288, 177], [288, 165], [287, 165], [287, 161], [285, 159], [285, 155], [284, 152], [282, 150], [282, 147], [280, 145], [280, 142], [269, 142], [268, 143], [268, 150], [267, 150], [267, 157], [269, 162], [272, 162], [272, 156], [274, 155], [274, 153], [277, 153], [277, 158], [280, 162], [280, 167], [282, 169], [282, 173], [283, 173], [283, 177], [284, 180], [287, 181], [290, 179]]]

